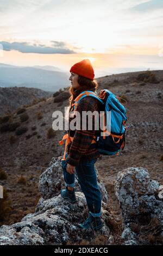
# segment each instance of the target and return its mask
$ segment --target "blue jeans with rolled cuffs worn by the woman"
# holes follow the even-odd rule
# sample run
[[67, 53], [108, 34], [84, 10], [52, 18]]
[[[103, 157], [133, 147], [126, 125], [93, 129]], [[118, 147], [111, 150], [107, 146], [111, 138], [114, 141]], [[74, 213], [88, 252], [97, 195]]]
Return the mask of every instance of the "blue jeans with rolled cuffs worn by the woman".
[[[65, 155], [67, 157], [67, 153]], [[85, 195], [87, 207], [93, 217], [101, 216], [101, 193], [97, 184], [95, 163], [97, 159], [89, 161], [80, 161], [76, 166], [77, 179]], [[75, 174], [70, 174], [66, 170], [67, 163], [62, 160], [62, 169], [64, 173], [65, 185], [75, 186]]]

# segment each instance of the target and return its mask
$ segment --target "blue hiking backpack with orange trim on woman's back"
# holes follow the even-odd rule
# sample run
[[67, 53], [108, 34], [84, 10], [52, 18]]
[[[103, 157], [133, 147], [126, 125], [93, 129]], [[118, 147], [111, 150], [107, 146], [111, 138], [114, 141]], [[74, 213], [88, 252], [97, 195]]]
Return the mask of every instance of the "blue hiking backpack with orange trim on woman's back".
[[[74, 110], [76, 110], [79, 101], [86, 96], [95, 97], [102, 103], [100, 111], [104, 113], [105, 126], [107, 127], [107, 124], [110, 126], [109, 132], [105, 130], [103, 134], [100, 133], [99, 137], [97, 137], [96, 143], [99, 153], [102, 155], [119, 155], [125, 145], [125, 132], [127, 129], [124, 126], [127, 121], [126, 108], [113, 93], [104, 89], [101, 90], [99, 95], [91, 90], [80, 93], [74, 101]], [[108, 133], [107, 136], [106, 133]]]

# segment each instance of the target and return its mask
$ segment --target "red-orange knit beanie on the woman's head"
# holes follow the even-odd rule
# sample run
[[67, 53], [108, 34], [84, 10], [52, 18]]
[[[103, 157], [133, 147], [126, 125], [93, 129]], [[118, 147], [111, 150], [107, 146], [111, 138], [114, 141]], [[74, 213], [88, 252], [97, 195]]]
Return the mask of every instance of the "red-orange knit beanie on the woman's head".
[[70, 72], [74, 72], [80, 76], [87, 77], [90, 80], [93, 80], [95, 77], [94, 70], [89, 59], [84, 59], [82, 62], [74, 64], [71, 67]]

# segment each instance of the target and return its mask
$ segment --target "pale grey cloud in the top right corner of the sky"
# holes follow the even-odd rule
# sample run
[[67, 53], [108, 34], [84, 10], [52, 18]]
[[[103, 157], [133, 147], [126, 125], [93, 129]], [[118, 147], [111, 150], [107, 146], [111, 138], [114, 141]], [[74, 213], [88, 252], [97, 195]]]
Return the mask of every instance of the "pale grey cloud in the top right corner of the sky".
[[146, 3], [141, 3], [135, 5], [135, 7], [130, 8], [130, 10], [144, 12], [144, 11], [151, 11], [156, 9], [163, 8], [163, 1], [162, 0], [150, 0]]

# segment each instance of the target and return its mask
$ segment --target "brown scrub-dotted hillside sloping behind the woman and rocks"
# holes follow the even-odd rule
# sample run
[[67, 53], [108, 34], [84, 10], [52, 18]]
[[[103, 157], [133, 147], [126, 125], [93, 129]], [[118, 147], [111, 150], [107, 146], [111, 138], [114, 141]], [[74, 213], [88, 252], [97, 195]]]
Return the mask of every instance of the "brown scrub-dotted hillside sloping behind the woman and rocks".
[[[119, 171], [129, 167], [147, 168], [151, 178], [163, 185], [163, 71], [111, 75], [99, 77], [97, 82], [98, 92], [106, 88], [117, 96], [123, 95], [127, 101], [128, 130], [122, 155], [101, 156], [96, 162], [112, 200], [116, 220], [121, 224], [121, 212], [114, 194], [114, 183]], [[1, 172], [8, 175], [0, 183], [7, 189], [8, 200], [11, 200], [10, 212], [1, 224], [15, 223], [34, 212], [40, 198], [37, 187], [40, 174], [49, 166], [52, 157], [64, 153], [64, 147], [58, 144], [64, 131], [57, 131], [54, 137], [47, 138], [48, 130], [52, 127], [52, 113], [55, 110], [64, 112], [64, 107], [68, 106], [68, 92], [65, 90], [60, 96], [58, 101], [58, 96], [49, 97], [46, 101], [27, 107], [22, 114], [15, 112], [11, 115], [5, 124], [21, 122], [20, 127], [24, 126], [27, 130], [22, 135], [16, 135], [15, 131], [0, 132], [0, 167]], [[22, 122], [20, 115], [25, 113], [29, 118], [26, 115]]]

